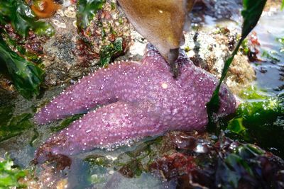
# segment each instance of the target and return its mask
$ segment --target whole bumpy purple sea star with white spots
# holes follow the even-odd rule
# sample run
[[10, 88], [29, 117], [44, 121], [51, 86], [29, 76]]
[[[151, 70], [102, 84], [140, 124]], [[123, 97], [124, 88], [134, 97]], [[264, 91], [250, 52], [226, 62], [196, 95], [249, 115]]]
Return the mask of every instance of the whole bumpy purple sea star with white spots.
[[[217, 79], [180, 55], [180, 76], [173, 79], [163, 57], [153, 49], [141, 62], [117, 62], [84, 77], [35, 115], [44, 124], [76, 113], [80, 120], [48, 139], [43, 153], [77, 154], [126, 139], [161, 134], [168, 130], [203, 130], [206, 103]], [[236, 101], [222, 85], [218, 115], [234, 113]]]

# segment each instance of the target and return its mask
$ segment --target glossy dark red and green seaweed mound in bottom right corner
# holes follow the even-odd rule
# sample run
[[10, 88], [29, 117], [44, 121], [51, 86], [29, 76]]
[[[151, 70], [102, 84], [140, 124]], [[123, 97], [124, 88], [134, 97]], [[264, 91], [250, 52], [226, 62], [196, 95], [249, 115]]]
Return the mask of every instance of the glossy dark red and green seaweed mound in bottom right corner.
[[283, 188], [284, 161], [253, 144], [222, 135], [217, 142], [206, 134], [204, 138], [174, 132], [166, 137], [176, 152], [156, 159], [149, 167], [177, 188]]

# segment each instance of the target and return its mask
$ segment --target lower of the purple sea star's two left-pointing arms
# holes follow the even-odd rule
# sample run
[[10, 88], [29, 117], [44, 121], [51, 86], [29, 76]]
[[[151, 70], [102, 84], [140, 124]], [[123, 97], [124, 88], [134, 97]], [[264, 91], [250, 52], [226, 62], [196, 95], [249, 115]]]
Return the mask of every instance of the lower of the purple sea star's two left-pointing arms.
[[127, 139], [159, 134], [167, 128], [160, 125], [160, 115], [149, 102], [119, 101], [85, 115], [68, 128], [50, 137], [36, 154], [38, 159], [47, 154], [77, 154], [95, 147], [105, 147]]

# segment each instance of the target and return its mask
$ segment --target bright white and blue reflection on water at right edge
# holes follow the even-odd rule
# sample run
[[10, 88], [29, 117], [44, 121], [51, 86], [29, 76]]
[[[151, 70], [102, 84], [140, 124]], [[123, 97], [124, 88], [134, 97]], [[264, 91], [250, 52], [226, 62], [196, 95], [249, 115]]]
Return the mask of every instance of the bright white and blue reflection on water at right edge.
[[[254, 66], [257, 84], [260, 88], [272, 93], [283, 93], [284, 90], [284, 11], [266, 14], [254, 29], [261, 44], [261, 59]], [[268, 53], [268, 56], [266, 55]]]

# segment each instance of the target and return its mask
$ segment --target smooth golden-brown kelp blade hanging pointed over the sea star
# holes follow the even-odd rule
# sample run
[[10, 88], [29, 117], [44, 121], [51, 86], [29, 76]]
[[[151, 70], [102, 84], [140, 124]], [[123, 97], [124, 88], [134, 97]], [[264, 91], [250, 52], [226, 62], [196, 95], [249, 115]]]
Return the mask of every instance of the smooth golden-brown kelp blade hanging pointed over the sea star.
[[183, 30], [195, 0], [118, 0], [133, 27], [169, 63], [178, 58]]

